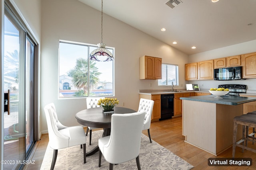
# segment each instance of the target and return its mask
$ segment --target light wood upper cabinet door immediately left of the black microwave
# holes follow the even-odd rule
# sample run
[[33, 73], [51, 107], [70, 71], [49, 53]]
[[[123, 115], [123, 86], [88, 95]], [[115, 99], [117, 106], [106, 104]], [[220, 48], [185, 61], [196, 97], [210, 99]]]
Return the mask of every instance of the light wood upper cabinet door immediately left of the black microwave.
[[198, 62], [198, 80], [213, 80], [213, 60]]

